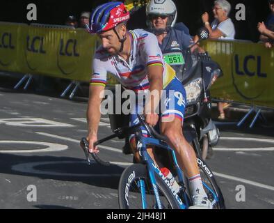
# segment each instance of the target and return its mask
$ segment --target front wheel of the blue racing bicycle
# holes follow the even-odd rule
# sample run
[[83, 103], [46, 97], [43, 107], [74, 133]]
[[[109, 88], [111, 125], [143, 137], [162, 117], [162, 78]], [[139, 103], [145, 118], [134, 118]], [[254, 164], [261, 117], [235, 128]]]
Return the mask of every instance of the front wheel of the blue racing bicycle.
[[[161, 203], [163, 208], [171, 208], [171, 209], [179, 209], [179, 203], [175, 199], [174, 195], [168, 188], [168, 185], [163, 182], [158, 174], [155, 174], [156, 178], [156, 186], [158, 187], [159, 194], [161, 195], [161, 199], [165, 198], [168, 202]], [[154, 191], [152, 190], [152, 186], [150, 183], [150, 178], [147, 175], [147, 168], [144, 164], [133, 164], [127, 169], [124, 170], [122, 176], [120, 178], [119, 187], [118, 187], [118, 199], [119, 199], [119, 207], [121, 209], [143, 209], [142, 199], [138, 199], [137, 196], [141, 197], [140, 191], [138, 192], [138, 188], [136, 188], [135, 180], [145, 180], [146, 187], [146, 198], [151, 198], [151, 203], [147, 203], [147, 209], [156, 209], [156, 199], [154, 195]], [[136, 189], [136, 192], [134, 191]], [[131, 194], [129, 194], [131, 192]], [[129, 198], [132, 198], [131, 202], [129, 202]], [[134, 200], [135, 199], [135, 200]], [[139, 203], [137, 207], [134, 207], [133, 202]]]

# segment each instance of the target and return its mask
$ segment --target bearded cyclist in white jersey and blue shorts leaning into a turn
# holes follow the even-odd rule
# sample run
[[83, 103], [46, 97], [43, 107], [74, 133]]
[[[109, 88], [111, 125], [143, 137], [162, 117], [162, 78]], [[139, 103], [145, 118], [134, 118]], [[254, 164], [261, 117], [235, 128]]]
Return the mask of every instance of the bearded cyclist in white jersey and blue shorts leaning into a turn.
[[[97, 141], [97, 130], [100, 120], [100, 103], [102, 92], [106, 86], [107, 72], [114, 75], [125, 89], [134, 92], [150, 92], [149, 98], [143, 103], [138, 103], [131, 112], [130, 125], [138, 123], [137, 114], [140, 109], [145, 111], [145, 121], [148, 125], [155, 126], [160, 122], [161, 134], [166, 135], [168, 144], [175, 149], [179, 166], [188, 176], [193, 204], [191, 208], [211, 208], [202, 186], [202, 180], [193, 148], [187, 143], [182, 134], [184, 121], [184, 108], [186, 106], [186, 93], [175, 71], [163, 61], [161, 49], [154, 34], [136, 29], [127, 31], [126, 22], [129, 12], [121, 2], [104, 3], [95, 8], [90, 17], [90, 33], [96, 33], [102, 40], [102, 45], [95, 52], [92, 61], [92, 77], [90, 80], [90, 96], [88, 100], [88, 142], [90, 153], [98, 153], [98, 148], [93, 146]], [[156, 114], [155, 108], [159, 106], [160, 91], [165, 89], [167, 100], [166, 109]], [[173, 91], [174, 103], [170, 102]], [[154, 93], [152, 93], [154, 92]], [[155, 93], [156, 92], [156, 93]], [[174, 104], [173, 107], [170, 105]], [[144, 132], [143, 134], [147, 134]], [[138, 158], [138, 149], [134, 137], [131, 136], [131, 146], [134, 155]], [[154, 160], [153, 151], [148, 150]]]

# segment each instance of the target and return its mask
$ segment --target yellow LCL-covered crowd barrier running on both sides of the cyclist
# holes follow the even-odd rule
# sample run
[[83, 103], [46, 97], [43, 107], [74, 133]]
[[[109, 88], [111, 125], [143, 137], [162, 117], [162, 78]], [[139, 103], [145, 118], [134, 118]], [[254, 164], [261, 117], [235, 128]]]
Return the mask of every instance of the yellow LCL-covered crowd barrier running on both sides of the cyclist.
[[[89, 82], [97, 42], [84, 29], [0, 22], [0, 70]], [[202, 47], [224, 73], [211, 88], [214, 98], [274, 108], [273, 48], [225, 40]]]

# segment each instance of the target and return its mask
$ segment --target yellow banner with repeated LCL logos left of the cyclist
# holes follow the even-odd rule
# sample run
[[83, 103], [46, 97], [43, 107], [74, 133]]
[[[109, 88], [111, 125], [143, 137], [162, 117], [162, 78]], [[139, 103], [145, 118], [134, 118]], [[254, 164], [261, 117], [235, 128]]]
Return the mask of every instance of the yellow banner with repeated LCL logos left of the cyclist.
[[0, 69], [88, 82], [97, 43], [83, 29], [0, 24]]

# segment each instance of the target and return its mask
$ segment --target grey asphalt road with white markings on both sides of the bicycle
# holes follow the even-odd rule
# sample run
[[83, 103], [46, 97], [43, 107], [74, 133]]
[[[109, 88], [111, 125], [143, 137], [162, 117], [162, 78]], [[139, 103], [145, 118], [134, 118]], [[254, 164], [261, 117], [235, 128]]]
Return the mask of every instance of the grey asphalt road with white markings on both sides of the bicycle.
[[[0, 89], [0, 208], [118, 208], [118, 182], [132, 155], [122, 154], [123, 141], [114, 139], [99, 153], [110, 167], [86, 164], [79, 147], [86, 106]], [[217, 124], [220, 143], [207, 163], [227, 208], [274, 208], [273, 129]], [[103, 117], [99, 138], [109, 134]]]

